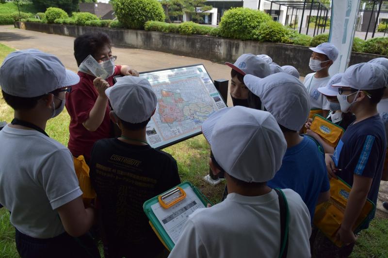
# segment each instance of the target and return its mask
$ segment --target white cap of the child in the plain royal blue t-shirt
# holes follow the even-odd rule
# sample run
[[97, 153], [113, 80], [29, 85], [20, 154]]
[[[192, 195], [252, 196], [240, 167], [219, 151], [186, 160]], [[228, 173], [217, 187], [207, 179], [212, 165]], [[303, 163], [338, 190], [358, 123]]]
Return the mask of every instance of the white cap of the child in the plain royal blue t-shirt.
[[245, 86], [258, 96], [276, 121], [293, 131], [299, 131], [310, 112], [305, 86], [299, 79], [286, 73], [277, 73], [263, 79], [244, 76]]

